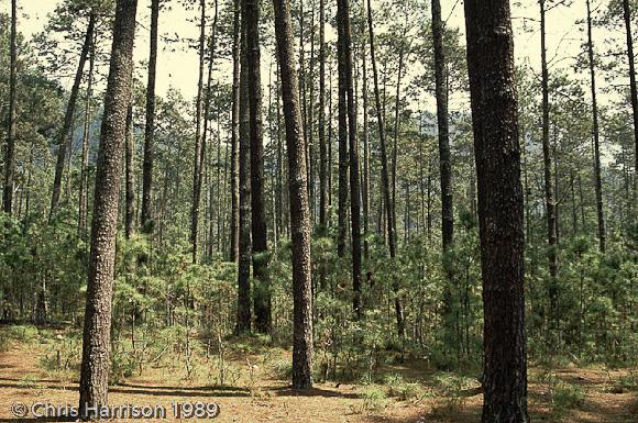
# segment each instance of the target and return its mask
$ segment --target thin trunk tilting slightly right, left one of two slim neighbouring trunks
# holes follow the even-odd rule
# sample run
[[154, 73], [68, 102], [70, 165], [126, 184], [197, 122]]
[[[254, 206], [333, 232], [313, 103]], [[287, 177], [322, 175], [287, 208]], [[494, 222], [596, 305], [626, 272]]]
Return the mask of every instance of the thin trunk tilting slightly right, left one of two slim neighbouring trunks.
[[201, 199], [201, 157], [204, 155], [204, 134], [201, 121], [204, 112], [204, 64], [206, 47], [206, 0], [199, 1], [201, 16], [199, 21], [199, 81], [197, 84], [197, 100], [195, 104], [195, 159], [193, 172], [193, 208], [190, 210], [190, 244], [193, 246], [193, 263], [197, 263], [198, 257], [198, 235], [199, 235], [199, 203]]

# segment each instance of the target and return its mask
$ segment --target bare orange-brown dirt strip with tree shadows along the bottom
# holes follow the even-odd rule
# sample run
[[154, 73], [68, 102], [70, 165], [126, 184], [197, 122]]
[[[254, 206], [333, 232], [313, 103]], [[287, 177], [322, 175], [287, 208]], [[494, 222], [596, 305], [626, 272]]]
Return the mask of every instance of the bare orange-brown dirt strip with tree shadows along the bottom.
[[[72, 404], [78, 402], [75, 377], [52, 377], [38, 365], [43, 355], [51, 355], [46, 345], [12, 344], [0, 353], [0, 423], [58, 421], [55, 418], [18, 419], [11, 413], [14, 403]], [[432, 371], [419, 366], [396, 367], [393, 371], [422, 382], [424, 394], [402, 401], [397, 398], [377, 398], [370, 387], [362, 385], [316, 383], [309, 392], [295, 392], [288, 382], [271, 375], [267, 369], [251, 365], [251, 357], [232, 357], [234, 364], [246, 368], [251, 375], [234, 381], [233, 387], [210, 388], [196, 380], [183, 380], [169, 368], [150, 368], [142, 376], [127, 378], [125, 382], [110, 389], [112, 404], [162, 404], [167, 410], [166, 420], [147, 422], [205, 421], [176, 419], [172, 415], [173, 402], [216, 402], [220, 414], [212, 421], [232, 423], [289, 422], [289, 423], [426, 423], [480, 422], [483, 396], [479, 390], [447, 396], [429, 385]], [[249, 358], [246, 360], [246, 358]], [[230, 360], [231, 358], [229, 358]], [[256, 363], [256, 359], [253, 360]], [[617, 380], [629, 370], [566, 368], [553, 372], [554, 381], [575, 386], [584, 393], [584, 402], [575, 408], [557, 412], [552, 409], [551, 388], [540, 369], [530, 371], [529, 408], [532, 421], [563, 423], [629, 423], [638, 422], [638, 397], [634, 391], [618, 388]], [[634, 370], [635, 371], [635, 370]], [[378, 387], [382, 390], [383, 387]], [[61, 420], [62, 421], [62, 420]], [[133, 421], [133, 420], [131, 420]]]

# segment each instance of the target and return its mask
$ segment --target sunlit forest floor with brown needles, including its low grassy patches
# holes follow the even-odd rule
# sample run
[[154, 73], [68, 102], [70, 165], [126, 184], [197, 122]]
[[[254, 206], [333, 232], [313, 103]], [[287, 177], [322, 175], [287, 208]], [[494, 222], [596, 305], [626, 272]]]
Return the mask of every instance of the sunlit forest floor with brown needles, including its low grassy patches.
[[[57, 421], [33, 415], [18, 419], [11, 412], [14, 403], [77, 404], [77, 372], [45, 370], [43, 363], [56, 357], [55, 349], [59, 344], [55, 338], [42, 342], [12, 342], [0, 352], [0, 423]], [[170, 411], [175, 401], [216, 402], [220, 405], [220, 413], [212, 421], [224, 423], [464, 423], [481, 420], [483, 396], [479, 382], [468, 378], [462, 383], [446, 385], [446, 380], [463, 379], [428, 369], [424, 363], [377, 370], [393, 375], [385, 380], [395, 382], [326, 382], [316, 383], [307, 392], [295, 392], [289, 389], [286, 376], [277, 371], [278, 364], [284, 366], [285, 360], [289, 360], [289, 352], [284, 349], [272, 348], [264, 355], [264, 349], [242, 353], [240, 348], [224, 357], [222, 367], [219, 366], [219, 356], [194, 359], [198, 363], [193, 364], [188, 378], [184, 377], [177, 361], [148, 366], [141, 375], [134, 372], [125, 381], [112, 386], [109, 402], [163, 404], [168, 410], [167, 420], [145, 420], [148, 422], [204, 421], [175, 419]], [[211, 380], [210, 372], [217, 374], [220, 368], [224, 369], [227, 386], [213, 388], [206, 383], [206, 380]], [[209, 374], [204, 375], [207, 371]], [[535, 422], [636, 422], [636, 371], [570, 366], [548, 371], [532, 367], [529, 372], [531, 419]]]

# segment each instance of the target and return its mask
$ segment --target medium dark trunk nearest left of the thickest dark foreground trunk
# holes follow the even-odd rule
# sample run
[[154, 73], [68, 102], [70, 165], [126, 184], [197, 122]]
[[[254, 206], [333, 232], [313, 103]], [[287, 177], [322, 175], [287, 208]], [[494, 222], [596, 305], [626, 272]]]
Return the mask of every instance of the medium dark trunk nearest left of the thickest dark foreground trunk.
[[447, 252], [454, 241], [454, 209], [452, 203], [448, 82], [440, 0], [432, 0], [432, 40], [435, 45], [437, 124], [439, 129], [439, 171], [441, 175], [441, 240], [443, 252]]

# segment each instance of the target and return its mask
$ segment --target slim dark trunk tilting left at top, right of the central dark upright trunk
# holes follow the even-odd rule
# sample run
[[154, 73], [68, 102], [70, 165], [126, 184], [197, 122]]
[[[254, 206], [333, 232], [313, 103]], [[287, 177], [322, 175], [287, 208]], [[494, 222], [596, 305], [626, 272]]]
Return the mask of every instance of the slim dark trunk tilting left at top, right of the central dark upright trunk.
[[[387, 219], [387, 238], [389, 246], [389, 257], [396, 257], [396, 236], [395, 236], [395, 221], [392, 208], [392, 194], [391, 194], [391, 182], [389, 182], [389, 169], [387, 164], [387, 146], [385, 140], [385, 129], [384, 129], [384, 113], [383, 105], [381, 103], [381, 94], [378, 90], [378, 69], [376, 68], [376, 58], [374, 49], [374, 30], [372, 22], [372, 1], [367, 0], [367, 30], [370, 36], [370, 59], [372, 62], [372, 75], [374, 79], [374, 100], [376, 103], [376, 122], [378, 125], [378, 141], [381, 147], [381, 180], [382, 180], [382, 192], [383, 192], [383, 203], [385, 205], [385, 216]], [[397, 323], [397, 333], [400, 337], [405, 334], [405, 322], [404, 322], [404, 304], [403, 299], [399, 294], [399, 285], [395, 279], [393, 281], [393, 289], [395, 292], [395, 313]]]

